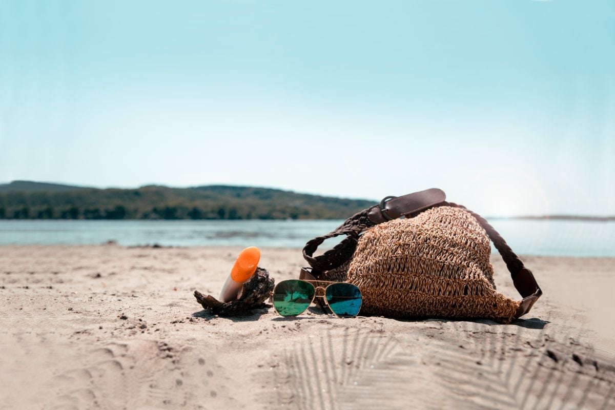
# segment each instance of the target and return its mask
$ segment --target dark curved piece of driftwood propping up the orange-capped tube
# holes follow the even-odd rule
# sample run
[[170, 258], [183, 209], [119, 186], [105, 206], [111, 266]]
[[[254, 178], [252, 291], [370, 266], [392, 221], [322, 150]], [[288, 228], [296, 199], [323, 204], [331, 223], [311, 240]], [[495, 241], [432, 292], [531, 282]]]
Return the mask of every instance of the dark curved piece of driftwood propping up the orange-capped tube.
[[248, 282], [244, 283], [240, 291], [239, 299], [231, 302], [220, 302], [212, 295], [204, 295], [194, 291], [194, 297], [205, 310], [220, 316], [237, 316], [249, 313], [252, 309], [266, 307], [264, 301], [269, 298], [273, 291], [274, 280], [269, 277], [267, 269], [256, 268], [256, 272]]

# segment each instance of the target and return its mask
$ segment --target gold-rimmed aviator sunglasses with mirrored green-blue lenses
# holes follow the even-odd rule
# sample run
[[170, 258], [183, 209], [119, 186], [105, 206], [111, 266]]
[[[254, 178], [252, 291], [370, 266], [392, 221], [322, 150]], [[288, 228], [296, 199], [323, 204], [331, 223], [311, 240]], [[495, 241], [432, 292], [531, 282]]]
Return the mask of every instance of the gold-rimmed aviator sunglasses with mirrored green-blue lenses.
[[[316, 294], [319, 289], [323, 290], [323, 294]], [[320, 301], [323, 300], [337, 317], [355, 317], [361, 310], [361, 291], [357, 286], [345, 282], [282, 280], [273, 289], [272, 297], [274, 309], [282, 316], [300, 315], [315, 298], [322, 298]]]

